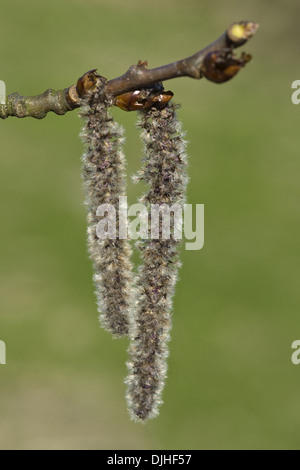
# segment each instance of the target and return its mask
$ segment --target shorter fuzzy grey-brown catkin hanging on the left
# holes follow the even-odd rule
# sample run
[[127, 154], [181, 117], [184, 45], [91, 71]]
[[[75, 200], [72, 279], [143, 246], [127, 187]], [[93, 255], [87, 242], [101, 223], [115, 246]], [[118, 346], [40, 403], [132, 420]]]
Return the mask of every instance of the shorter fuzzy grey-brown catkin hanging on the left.
[[82, 177], [88, 221], [88, 250], [94, 266], [94, 284], [100, 323], [115, 337], [128, 334], [129, 305], [132, 290], [131, 247], [127, 239], [99, 239], [96, 216], [100, 204], [112, 204], [118, 224], [119, 197], [125, 195], [125, 157], [122, 151], [123, 129], [109, 113], [110, 103], [97, 89], [85, 99], [80, 116], [85, 124], [81, 138], [85, 144]]

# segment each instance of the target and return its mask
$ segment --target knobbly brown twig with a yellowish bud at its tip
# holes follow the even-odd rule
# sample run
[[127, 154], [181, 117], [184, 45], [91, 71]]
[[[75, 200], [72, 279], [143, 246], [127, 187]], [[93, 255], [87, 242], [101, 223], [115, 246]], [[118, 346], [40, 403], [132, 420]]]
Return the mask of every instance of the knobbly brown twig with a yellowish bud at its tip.
[[[196, 54], [186, 59], [173, 62], [154, 69], [147, 68], [147, 62], [139, 61], [127, 72], [106, 85], [106, 94], [110, 99], [124, 93], [140, 90], [151, 85], [177, 77], [200, 79], [206, 77], [216, 83], [223, 83], [236, 75], [251, 59], [242, 54], [241, 58], [233, 56], [233, 50], [244, 45], [256, 32], [258, 24], [250, 21], [233, 23], [218, 39]], [[47, 90], [37, 96], [21, 96], [13, 93], [0, 104], [0, 118], [9, 116], [19, 118], [31, 116], [43, 119], [52, 111], [62, 115], [79, 108], [82, 98], [94, 88], [99, 80], [96, 70], [84, 74], [77, 82], [64, 90]], [[113, 101], [113, 104], [116, 104]]]

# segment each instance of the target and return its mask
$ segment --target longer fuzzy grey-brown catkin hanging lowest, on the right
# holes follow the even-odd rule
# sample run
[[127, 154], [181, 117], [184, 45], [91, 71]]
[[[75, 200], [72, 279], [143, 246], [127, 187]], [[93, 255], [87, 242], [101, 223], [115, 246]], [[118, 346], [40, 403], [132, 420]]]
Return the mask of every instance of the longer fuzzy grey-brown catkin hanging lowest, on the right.
[[[142, 129], [144, 159], [135, 179], [150, 186], [139, 201], [148, 210], [150, 204], [183, 206], [185, 203], [186, 143], [177, 120], [177, 107], [171, 104], [161, 111], [152, 108], [140, 113], [138, 125]], [[151, 227], [151, 222], [149, 225]], [[155, 417], [162, 403], [172, 297], [180, 266], [178, 244], [172, 232], [167, 240], [163, 240], [160, 233], [159, 239], [137, 243], [143, 264], [136, 280], [126, 379], [128, 408], [135, 421], [144, 422]]]

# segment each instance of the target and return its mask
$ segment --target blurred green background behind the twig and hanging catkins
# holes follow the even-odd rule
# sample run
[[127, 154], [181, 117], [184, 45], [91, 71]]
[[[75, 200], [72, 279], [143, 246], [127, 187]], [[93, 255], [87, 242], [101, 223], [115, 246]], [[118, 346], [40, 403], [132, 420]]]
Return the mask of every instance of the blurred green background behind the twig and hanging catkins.
[[[205, 246], [182, 252], [165, 403], [145, 426], [126, 411], [127, 340], [97, 320], [77, 111], [0, 123], [0, 448], [299, 449], [299, 1], [16, 0], [0, 13], [0, 79], [28, 95], [92, 68], [114, 78], [138, 59], [169, 63], [233, 21], [260, 23], [232, 82], [166, 83]], [[131, 175], [136, 115], [114, 116]], [[131, 203], [140, 191], [129, 181]]]

